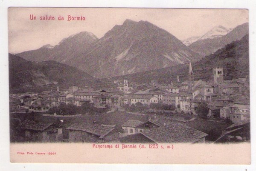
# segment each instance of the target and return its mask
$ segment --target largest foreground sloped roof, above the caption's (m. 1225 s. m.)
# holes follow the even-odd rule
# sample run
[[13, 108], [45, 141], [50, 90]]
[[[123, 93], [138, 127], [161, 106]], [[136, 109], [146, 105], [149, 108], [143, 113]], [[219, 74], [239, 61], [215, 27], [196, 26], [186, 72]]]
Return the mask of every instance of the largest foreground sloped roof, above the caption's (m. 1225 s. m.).
[[169, 123], [141, 134], [157, 143], [193, 143], [208, 135], [181, 123]]

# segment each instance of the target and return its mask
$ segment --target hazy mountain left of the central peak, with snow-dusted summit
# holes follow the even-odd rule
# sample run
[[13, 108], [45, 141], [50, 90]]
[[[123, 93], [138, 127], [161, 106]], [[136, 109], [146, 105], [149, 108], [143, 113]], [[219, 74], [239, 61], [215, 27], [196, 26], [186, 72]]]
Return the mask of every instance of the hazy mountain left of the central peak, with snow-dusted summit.
[[56, 46], [45, 45], [39, 49], [25, 51], [17, 55], [25, 60], [36, 62], [55, 60], [65, 63], [65, 61], [75, 57], [76, 54], [81, 54], [87, 48], [90, 48], [90, 45], [97, 40], [98, 38], [94, 34], [82, 31], [78, 34], [64, 38]]

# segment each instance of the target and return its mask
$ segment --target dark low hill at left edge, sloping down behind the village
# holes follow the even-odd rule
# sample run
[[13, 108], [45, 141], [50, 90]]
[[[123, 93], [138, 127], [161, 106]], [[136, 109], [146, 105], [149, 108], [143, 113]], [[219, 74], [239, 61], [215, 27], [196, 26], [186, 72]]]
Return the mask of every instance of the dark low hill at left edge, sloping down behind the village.
[[[32, 62], [9, 54], [9, 89], [28, 90], [59, 85], [68, 88], [70, 84], [91, 85], [101, 82], [75, 67], [56, 61]], [[49, 88], [48, 88], [49, 90]]]

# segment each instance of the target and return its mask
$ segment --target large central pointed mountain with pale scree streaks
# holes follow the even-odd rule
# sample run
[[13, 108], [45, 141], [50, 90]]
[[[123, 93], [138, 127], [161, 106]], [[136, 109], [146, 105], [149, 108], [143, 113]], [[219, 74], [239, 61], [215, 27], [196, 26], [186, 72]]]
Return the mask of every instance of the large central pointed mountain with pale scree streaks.
[[200, 60], [180, 40], [147, 21], [125, 20], [66, 63], [95, 77], [112, 77]]

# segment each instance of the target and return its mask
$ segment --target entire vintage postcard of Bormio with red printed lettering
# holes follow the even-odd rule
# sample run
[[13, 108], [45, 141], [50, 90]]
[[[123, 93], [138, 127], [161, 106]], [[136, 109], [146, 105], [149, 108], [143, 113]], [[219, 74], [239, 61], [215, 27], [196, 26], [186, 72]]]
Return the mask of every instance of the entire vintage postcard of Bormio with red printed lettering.
[[248, 9], [8, 9], [10, 161], [250, 164]]

